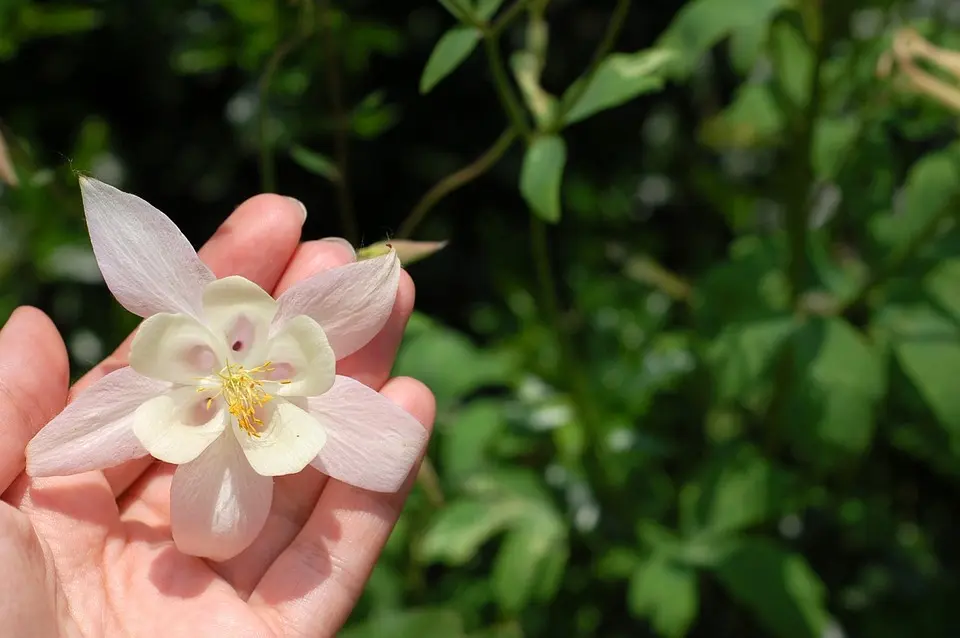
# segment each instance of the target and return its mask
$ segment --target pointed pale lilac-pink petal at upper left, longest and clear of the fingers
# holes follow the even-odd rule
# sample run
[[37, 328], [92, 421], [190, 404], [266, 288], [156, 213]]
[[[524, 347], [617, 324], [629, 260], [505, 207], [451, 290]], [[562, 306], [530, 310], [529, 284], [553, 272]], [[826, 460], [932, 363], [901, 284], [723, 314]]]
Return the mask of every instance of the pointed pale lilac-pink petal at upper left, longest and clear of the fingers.
[[213, 273], [180, 229], [135, 195], [88, 177], [80, 192], [93, 253], [103, 279], [135, 315], [200, 316], [203, 286]]

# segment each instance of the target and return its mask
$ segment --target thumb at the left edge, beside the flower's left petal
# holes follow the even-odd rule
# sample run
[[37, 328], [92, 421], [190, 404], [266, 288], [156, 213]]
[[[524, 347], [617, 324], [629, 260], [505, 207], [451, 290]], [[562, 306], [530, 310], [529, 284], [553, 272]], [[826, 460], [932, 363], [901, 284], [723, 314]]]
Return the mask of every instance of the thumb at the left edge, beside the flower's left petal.
[[70, 364], [53, 322], [36, 308], [18, 308], [0, 331], [0, 492], [25, 467], [24, 450], [63, 409]]

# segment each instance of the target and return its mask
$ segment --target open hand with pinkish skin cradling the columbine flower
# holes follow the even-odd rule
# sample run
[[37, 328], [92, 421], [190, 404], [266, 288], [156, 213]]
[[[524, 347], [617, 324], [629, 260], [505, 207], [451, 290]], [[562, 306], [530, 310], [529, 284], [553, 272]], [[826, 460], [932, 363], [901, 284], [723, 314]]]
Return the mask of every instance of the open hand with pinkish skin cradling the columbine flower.
[[[354, 259], [345, 243], [300, 243], [296, 202], [260, 195], [200, 250], [220, 277], [274, 294]], [[338, 364], [432, 426], [430, 391], [389, 378], [413, 308], [403, 273], [386, 327]], [[244, 553], [212, 563], [179, 553], [170, 535], [173, 468], [149, 459], [107, 472], [30, 479], [24, 449], [87, 385], [126, 365], [130, 339], [69, 387], [66, 349], [41, 311], [20, 308], [0, 331], [0, 596], [5, 636], [333, 636], [373, 569], [412, 485], [366, 492], [307, 468], [276, 480], [265, 529]]]

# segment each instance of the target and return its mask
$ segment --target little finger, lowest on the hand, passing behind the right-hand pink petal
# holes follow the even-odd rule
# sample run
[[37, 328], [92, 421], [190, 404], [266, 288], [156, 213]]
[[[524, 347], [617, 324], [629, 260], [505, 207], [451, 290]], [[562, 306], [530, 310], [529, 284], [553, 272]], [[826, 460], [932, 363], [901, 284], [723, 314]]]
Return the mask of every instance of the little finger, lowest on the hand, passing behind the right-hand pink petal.
[[[432, 427], [436, 404], [422, 383], [392, 379], [383, 394]], [[360, 597], [415, 479], [416, 468], [395, 494], [331, 479], [303, 530], [257, 584], [251, 608], [278, 635], [333, 636]]]

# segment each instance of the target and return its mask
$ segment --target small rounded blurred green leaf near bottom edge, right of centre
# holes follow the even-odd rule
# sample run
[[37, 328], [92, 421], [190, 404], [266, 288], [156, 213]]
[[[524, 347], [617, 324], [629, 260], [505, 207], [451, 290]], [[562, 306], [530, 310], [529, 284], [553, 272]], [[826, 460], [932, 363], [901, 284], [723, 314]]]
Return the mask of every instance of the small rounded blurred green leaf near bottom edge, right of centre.
[[635, 615], [650, 619], [658, 635], [681, 638], [697, 617], [697, 573], [654, 554], [630, 579], [628, 603]]

